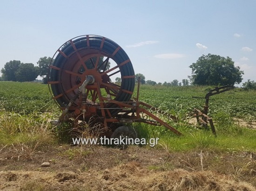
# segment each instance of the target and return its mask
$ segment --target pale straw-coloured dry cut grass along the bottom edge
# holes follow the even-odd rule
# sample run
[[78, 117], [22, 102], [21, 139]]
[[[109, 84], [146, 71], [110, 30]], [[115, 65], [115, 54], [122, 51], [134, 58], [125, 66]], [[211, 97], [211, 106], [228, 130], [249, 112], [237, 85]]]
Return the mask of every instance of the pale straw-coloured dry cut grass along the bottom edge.
[[[183, 169], [154, 172], [129, 162], [104, 171], [90, 172], [1, 172], [9, 185], [20, 191], [255, 191], [246, 182], [237, 182], [209, 171]], [[17, 184], [18, 183], [18, 184]], [[7, 187], [6, 187], [7, 188]], [[10, 186], [9, 186], [10, 188]], [[5, 189], [5, 187], [1, 187]]]

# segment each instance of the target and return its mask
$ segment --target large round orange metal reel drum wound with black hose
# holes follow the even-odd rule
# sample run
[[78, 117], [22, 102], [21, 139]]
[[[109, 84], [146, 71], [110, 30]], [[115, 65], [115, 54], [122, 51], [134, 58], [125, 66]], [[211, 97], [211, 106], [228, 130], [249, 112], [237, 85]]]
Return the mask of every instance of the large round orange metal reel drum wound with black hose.
[[[63, 110], [87, 76], [94, 77], [94, 83], [88, 84], [69, 108], [69, 113], [86, 113], [88, 118], [117, 115], [121, 108], [113, 101], [130, 101], [135, 87], [134, 69], [126, 52], [114, 41], [97, 35], [79, 36], [63, 44], [54, 54], [48, 74], [49, 89]], [[112, 82], [117, 75], [119, 84]]]

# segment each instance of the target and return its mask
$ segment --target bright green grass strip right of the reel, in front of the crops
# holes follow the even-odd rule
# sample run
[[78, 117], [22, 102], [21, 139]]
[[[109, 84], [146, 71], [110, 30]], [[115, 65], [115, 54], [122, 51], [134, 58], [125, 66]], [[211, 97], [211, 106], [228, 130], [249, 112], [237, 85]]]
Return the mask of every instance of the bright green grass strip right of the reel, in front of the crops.
[[187, 152], [191, 150], [251, 151], [256, 152], [256, 130], [241, 127], [230, 117], [220, 113], [217, 115], [215, 125], [217, 137], [210, 130], [194, 129], [188, 123], [179, 123], [176, 127], [183, 136], [176, 136], [164, 127], [149, 126], [137, 123], [139, 137], [159, 138], [158, 148], [167, 149], [168, 152]]

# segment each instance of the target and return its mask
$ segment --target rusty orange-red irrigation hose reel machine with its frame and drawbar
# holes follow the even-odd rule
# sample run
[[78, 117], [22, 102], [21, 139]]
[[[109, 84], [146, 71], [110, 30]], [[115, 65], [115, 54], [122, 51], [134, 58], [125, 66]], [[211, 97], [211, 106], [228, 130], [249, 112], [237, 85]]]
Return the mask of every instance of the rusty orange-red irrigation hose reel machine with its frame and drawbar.
[[[111, 77], [115, 79], [116, 76], [121, 78], [119, 84], [111, 81]], [[102, 124], [98, 128], [105, 129], [108, 136], [129, 136], [132, 132], [124, 124], [144, 122], [162, 125], [182, 135], [150, 111], [164, 112], [139, 101], [140, 83], [137, 96], [132, 99], [135, 89], [133, 65], [126, 52], [108, 38], [84, 35], [64, 43], [49, 65], [48, 85], [54, 101], [63, 111], [56, 124], [73, 119], [77, 125], [79, 121], [88, 123], [95, 118]], [[194, 117], [202, 117], [207, 126], [211, 118], [207, 113], [196, 112]], [[176, 120], [172, 115], [168, 118]], [[210, 125], [213, 130], [212, 121]]]

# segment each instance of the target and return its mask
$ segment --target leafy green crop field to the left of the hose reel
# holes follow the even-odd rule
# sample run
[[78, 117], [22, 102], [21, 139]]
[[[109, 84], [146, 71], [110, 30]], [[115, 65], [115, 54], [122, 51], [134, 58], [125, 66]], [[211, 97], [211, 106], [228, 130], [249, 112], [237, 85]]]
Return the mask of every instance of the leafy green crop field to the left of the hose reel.
[[19, 114], [53, 112], [56, 108], [48, 86], [41, 83], [0, 82], [0, 105]]

